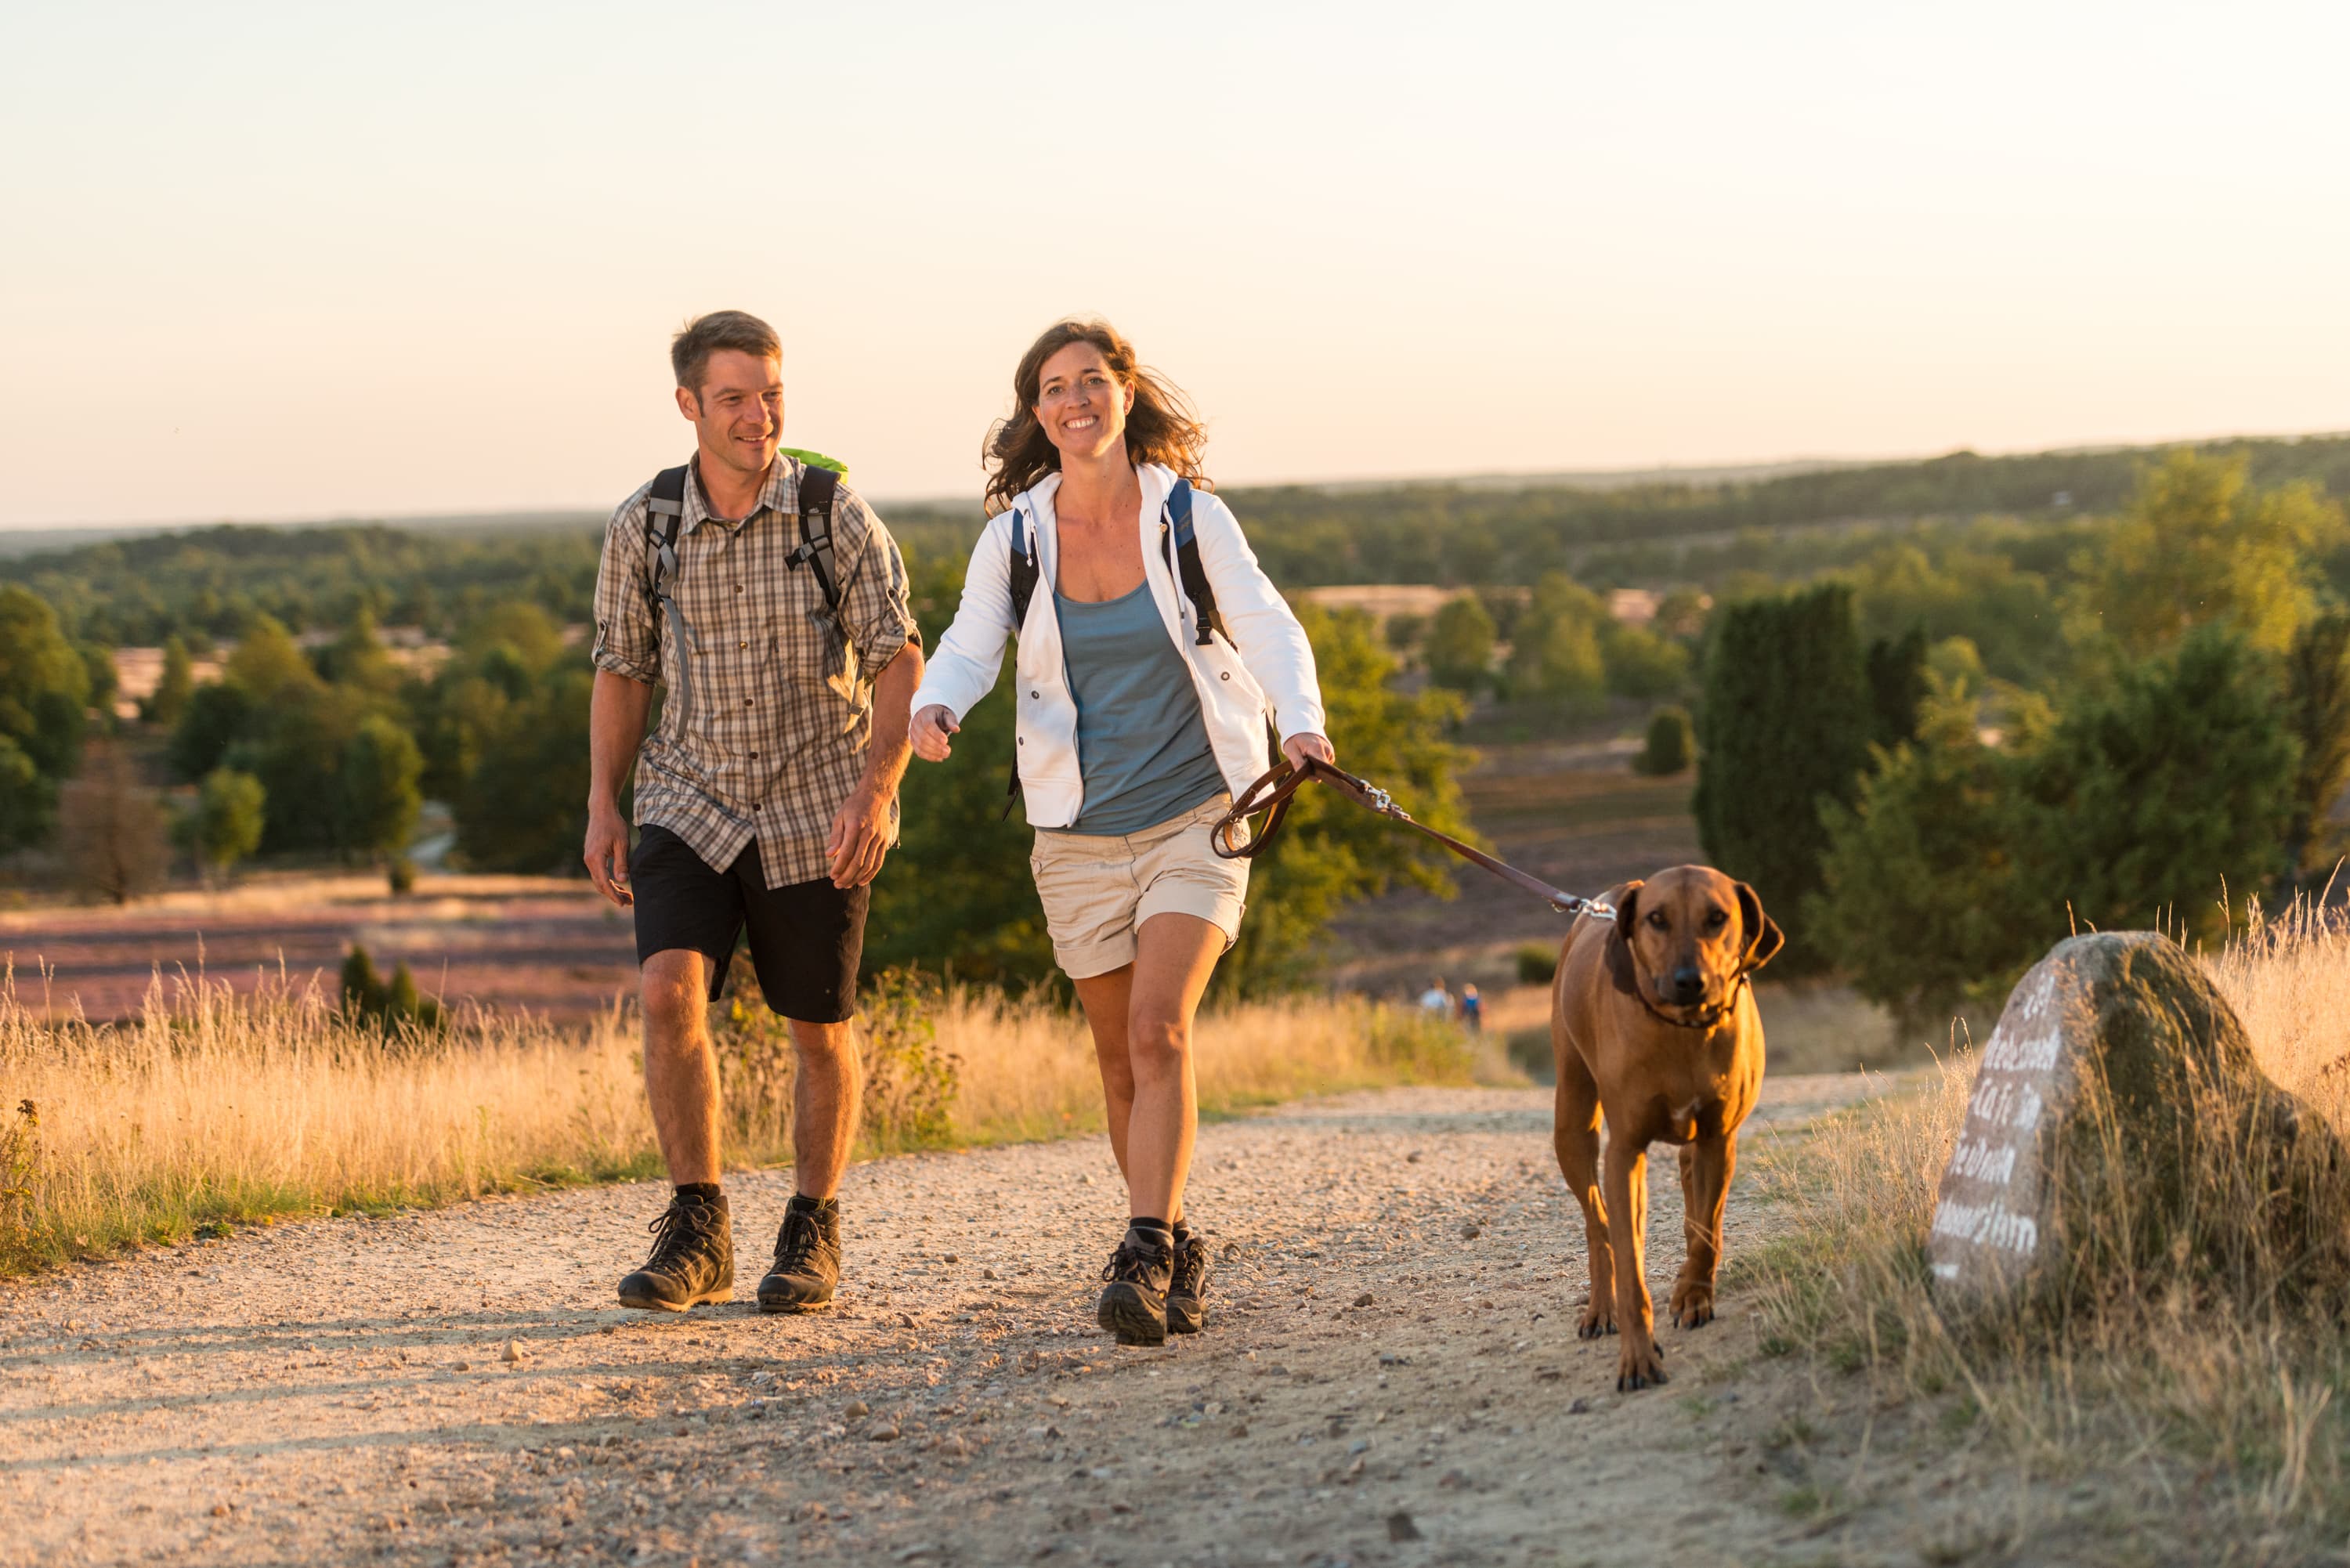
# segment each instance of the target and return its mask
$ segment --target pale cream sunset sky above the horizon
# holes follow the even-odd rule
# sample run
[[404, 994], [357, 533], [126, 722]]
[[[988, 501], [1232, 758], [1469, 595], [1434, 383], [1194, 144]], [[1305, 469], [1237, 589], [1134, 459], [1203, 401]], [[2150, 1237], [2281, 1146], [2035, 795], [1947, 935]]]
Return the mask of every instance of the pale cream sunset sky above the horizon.
[[609, 508], [667, 336], [975, 496], [1102, 313], [1224, 482], [2350, 428], [2343, 5], [19, 5], [0, 527]]

